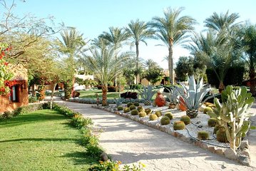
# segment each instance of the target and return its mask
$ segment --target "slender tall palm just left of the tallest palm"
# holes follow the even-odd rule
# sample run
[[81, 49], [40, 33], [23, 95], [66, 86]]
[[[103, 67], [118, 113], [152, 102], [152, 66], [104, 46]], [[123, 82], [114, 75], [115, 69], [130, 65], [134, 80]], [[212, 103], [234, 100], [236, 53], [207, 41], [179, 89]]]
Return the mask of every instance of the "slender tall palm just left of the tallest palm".
[[145, 21], [139, 21], [138, 19], [136, 21], [130, 21], [128, 27], [126, 28], [126, 31], [128, 33], [128, 36], [130, 37], [130, 40], [132, 41], [132, 44], [135, 45], [136, 48], [136, 83], [138, 84], [138, 46], [140, 41], [147, 45], [147, 42], [145, 40], [148, 38], [153, 38], [155, 31], [150, 28], [148, 24], [145, 23]]

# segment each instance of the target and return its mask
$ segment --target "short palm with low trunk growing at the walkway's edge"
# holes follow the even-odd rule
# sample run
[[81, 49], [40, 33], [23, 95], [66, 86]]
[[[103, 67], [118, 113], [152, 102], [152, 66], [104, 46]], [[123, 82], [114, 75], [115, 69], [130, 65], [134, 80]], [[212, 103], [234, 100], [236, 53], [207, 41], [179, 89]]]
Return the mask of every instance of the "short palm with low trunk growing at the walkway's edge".
[[128, 61], [133, 53], [127, 52], [118, 55], [115, 47], [106, 46], [104, 41], [101, 41], [101, 47], [99, 45], [98, 47], [93, 46], [90, 49], [91, 56], [85, 56], [85, 65], [101, 81], [102, 105], [107, 105], [108, 82], [121, 73], [123, 68], [126, 68], [126, 61]]

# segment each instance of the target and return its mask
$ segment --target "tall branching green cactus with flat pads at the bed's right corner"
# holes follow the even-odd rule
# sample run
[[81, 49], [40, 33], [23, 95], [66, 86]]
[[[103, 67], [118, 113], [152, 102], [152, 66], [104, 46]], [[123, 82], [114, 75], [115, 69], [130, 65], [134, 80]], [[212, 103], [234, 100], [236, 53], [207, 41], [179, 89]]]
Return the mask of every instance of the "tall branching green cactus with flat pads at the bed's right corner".
[[216, 118], [219, 125], [225, 128], [230, 147], [236, 150], [250, 128], [249, 118], [255, 115], [255, 113], [248, 113], [255, 98], [252, 97], [252, 93], [247, 93], [245, 87], [233, 90], [232, 86], [227, 86], [224, 91], [227, 100], [220, 104], [220, 101], [215, 98], [216, 108], [207, 114]]

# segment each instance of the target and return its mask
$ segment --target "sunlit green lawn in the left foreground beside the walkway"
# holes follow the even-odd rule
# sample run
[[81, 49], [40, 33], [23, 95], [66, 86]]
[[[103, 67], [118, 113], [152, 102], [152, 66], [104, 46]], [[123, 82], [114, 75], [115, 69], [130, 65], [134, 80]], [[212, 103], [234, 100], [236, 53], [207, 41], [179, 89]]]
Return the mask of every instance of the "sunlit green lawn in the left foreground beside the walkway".
[[79, 130], [54, 110], [0, 123], [0, 170], [86, 170], [96, 162], [78, 145]]

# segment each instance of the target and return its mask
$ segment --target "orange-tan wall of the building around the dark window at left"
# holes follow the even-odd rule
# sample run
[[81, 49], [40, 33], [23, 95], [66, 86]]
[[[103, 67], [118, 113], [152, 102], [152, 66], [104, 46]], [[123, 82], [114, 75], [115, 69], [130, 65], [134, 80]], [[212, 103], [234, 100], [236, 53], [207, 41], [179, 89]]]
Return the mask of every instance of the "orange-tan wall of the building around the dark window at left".
[[4, 111], [12, 111], [24, 105], [29, 104], [29, 92], [28, 92], [28, 74], [26, 68], [22, 65], [9, 66], [10, 71], [14, 73], [14, 78], [12, 80], [25, 81], [25, 87], [21, 88], [19, 85], [18, 97], [19, 102], [11, 102], [9, 96], [0, 96], [0, 113]]

